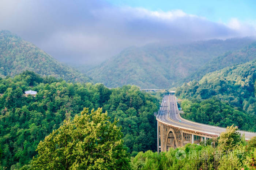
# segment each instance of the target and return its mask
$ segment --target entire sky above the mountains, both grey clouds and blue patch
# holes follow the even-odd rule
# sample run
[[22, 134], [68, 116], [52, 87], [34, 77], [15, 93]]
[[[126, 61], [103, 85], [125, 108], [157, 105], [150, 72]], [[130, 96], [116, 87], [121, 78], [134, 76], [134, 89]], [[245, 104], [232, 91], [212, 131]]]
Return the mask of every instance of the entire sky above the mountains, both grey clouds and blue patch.
[[1, 0], [0, 29], [57, 60], [97, 64], [130, 46], [256, 35], [256, 1]]

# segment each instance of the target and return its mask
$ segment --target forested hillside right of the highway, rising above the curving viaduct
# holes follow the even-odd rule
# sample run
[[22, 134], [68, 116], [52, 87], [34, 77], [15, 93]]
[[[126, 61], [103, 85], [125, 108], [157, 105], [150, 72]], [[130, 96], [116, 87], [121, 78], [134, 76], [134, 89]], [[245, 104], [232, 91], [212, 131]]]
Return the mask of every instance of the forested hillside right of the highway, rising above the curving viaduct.
[[[256, 60], [223, 68], [177, 88], [184, 117], [201, 123], [256, 131]], [[191, 97], [190, 97], [191, 96]], [[230, 107], [231, 106], [231, 107]]]

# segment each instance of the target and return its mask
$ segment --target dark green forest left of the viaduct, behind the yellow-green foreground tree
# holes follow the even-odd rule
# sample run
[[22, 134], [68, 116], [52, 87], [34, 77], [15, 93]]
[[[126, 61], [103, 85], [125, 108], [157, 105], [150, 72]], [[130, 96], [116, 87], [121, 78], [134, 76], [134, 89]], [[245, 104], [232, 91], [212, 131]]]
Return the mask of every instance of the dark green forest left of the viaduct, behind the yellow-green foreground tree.
[[[25, 97], [26, 90], [37, 91], [36, 97]], [[112, 122], [119, 119], [117, 125], [122, 126], [124, 145], [131, 155], [156, 149], [153, 113], [159, 100], [136, 86], [109, 89], [103, 84], [67, 83], [25, 71], [0, 79], [0, 94], [2, 167], [27, 164], [37, 154], [38, 143], [84, 107], [102, 107]]]

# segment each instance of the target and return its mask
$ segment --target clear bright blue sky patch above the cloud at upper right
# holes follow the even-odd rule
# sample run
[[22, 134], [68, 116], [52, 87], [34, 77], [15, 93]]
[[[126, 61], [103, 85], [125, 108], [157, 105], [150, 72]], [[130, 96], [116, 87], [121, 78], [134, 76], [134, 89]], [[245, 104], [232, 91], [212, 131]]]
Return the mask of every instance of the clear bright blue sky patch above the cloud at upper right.
[[232, 18], [256, 20], [256, 0], [107, 0], [116, 6], [146, 8], [151, 11], [181, 9], [185, 13], [224, 23]]

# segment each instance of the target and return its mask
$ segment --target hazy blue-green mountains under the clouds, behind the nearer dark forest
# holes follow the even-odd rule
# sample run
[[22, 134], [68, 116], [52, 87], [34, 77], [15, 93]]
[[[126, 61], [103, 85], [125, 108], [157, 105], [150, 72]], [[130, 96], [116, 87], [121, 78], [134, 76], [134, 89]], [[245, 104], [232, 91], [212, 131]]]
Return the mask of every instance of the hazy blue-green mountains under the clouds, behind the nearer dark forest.
[[0, 77], [29, 70], [66, 81], [99, 82], [107, 87], [135, 84], [141, 88], [171, 88], [253, 59], [255, 38], [245, 37], [129, 47], [98, 66], [75, 69], [10, 31], [0, 31]]

